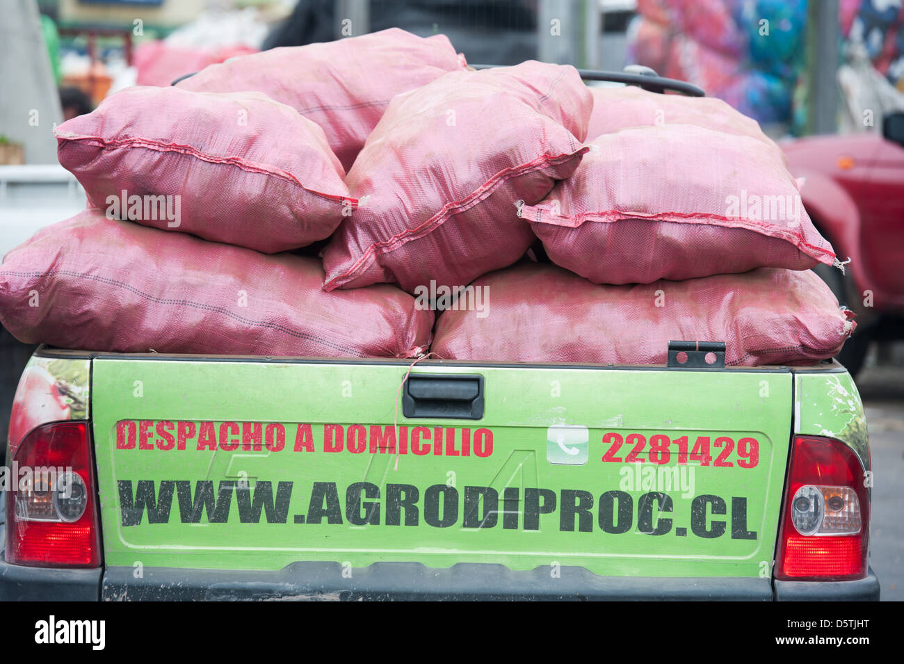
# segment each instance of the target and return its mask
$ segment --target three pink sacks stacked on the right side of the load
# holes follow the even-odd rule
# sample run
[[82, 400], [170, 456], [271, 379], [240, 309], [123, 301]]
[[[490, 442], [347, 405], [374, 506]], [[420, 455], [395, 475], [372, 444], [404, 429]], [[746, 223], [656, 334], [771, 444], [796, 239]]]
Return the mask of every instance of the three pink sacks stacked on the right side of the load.
[[725, 341], [726, 366], [808, 364], [853, 331], [809, 268], [837, 265], [784, 154], [720, 99], [593, 89], [590, 148], [528, 222], [554, 265], [474, 283], [483, 317], [439, 316], [431, 350], [468, 360], [663, 364]]

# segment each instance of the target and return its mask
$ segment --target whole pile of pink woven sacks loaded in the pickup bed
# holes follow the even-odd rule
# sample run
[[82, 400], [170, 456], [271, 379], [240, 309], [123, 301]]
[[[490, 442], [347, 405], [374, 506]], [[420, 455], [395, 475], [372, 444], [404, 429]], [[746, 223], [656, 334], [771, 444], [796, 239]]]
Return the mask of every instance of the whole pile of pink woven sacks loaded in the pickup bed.
[[[89, 209], [0, 266], [22, 341], [647, 364], [688, 339], [749, 365], [852, 329], [784, 156], [712, 99], [474, 71], [389, 30], [126, 89], [56, 134]], [[484, 311], [424, 295], [468, 285]]]

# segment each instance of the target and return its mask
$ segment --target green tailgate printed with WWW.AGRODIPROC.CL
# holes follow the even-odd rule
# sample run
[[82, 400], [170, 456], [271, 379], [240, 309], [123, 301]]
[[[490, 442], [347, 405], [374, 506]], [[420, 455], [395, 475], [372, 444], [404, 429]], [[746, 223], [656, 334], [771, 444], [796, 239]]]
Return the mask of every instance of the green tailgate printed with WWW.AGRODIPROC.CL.
[[790, 372], [424, 361], [482, 376], [485, 412], [397, 430], [407, 370], [94, 360], [105, 564], [771, 575]]

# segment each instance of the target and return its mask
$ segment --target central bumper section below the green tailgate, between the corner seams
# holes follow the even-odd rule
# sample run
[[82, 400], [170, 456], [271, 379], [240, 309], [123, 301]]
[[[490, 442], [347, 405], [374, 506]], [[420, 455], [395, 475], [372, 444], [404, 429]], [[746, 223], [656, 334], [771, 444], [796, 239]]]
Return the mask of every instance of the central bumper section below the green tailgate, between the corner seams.
[[344, 568], [301, 562], [273, 572], [223, 572], [110, 567], [104, 600], [747, 600], [769, 601], [768, 579], [637, 578], [598, 576], [583, 567], [513, 571], [503, 565], [460, 563], [437, 569], [419, 563], [375, 563]]

